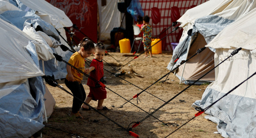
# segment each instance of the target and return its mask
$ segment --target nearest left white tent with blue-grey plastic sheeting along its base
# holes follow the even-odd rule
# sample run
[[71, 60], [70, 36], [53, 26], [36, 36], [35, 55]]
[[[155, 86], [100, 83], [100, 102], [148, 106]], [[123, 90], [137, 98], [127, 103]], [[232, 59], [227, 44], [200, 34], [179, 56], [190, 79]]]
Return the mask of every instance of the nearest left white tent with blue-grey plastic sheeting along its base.
[[2, 19], [0, 30], [0, 137], [27, 138], [44, 127], [37, 41]]

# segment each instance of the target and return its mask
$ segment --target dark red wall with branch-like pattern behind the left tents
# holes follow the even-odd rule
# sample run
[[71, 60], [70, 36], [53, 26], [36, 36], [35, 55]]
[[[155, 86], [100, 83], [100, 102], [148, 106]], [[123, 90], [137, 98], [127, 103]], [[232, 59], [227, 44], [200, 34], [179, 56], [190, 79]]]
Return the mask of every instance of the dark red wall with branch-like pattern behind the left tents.
[[[97, 1], [96, 0], [46, 0], [55, 7], [63, 10], [73, 24], [76, 24], [78, 29], [87, 35], [91, 40], [97, 42]], [[70, 29], [70, 28], [68, 28]], [[81, 40], [85, 37], [82, 33], [75, 30], [75, 35]], [[69, 34], [67, 40], [69, 39]], [[78, 40], [74, 39], [76, 44]]]

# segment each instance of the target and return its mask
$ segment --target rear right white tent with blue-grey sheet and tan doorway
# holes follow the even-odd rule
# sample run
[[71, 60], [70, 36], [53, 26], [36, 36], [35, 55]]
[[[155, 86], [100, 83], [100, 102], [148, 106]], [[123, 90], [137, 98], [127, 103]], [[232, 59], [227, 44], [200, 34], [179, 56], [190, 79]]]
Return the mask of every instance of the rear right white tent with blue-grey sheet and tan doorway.
[[[209, 43], [226, 26], [253, 8], [255, 8], [254, 1], [210, 0], [188, 10], [178, 20], [178, 22], [182, 23], [180, 27], [183, 27], [184, 32], [167, 68], [170, 70], [173, 66], [174, 68], [177, 67], [182, 61], [193, 55], [197, 49]], [[198, 12], [198, 10], [203, 10], [204, 12]], [[189, 29], [193, 29], [192, 36], [186, 35]], [[188, 41], [186, 41], [187, 37], [189, 37]], [[182, 48], [183, 51], [179, 60], [174, 63]], [[176, 71], [176, 76], [184, 83], [191, 84], [214, 67], [214, 49], [206, 48], [200, 54], [180, 66]], [[201, 84], [205, 81], [214, 81], [214, 72], [204, 76], [196, 84]]]

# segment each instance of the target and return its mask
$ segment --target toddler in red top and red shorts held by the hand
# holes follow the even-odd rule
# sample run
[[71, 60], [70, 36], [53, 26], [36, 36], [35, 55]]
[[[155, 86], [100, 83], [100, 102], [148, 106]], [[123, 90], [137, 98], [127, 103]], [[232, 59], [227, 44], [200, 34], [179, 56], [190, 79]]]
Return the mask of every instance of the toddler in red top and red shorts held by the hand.
[[[98, 42], [95, 46], [95, 51], [93, 53], [94, 58], [91, 62], [89, 71], [90, 77], [94, 78], [97, 81], [103, 83], [103, 62], [102, 59], [105, 54], [105, 46], [102, 42]], [[97, 101], [98, 100], [98, 110], [108, 110], [106, 106], [102, 106], [104, 99], [107, 98], [107, 91], [104, 87], [100, 86], [99, 83], [95, 82], [94, 80], [88, 78], [87, 85], [90, 87], [90, 93], [88, 94], [87, 98], [85, 99], [85, 103], [89, 104], [91, 100]], [[90, 108], [83, 104], [82, 110], [90, 110]]]

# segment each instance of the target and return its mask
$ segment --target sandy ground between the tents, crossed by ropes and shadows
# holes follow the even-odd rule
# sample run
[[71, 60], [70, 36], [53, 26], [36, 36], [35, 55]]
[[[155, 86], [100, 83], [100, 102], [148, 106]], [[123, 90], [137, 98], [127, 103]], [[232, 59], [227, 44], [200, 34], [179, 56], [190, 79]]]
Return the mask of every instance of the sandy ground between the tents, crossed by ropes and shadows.
[[[127, 58], [127, 56], [123, 56], [125, 55], [124, 53], [110, 54], [115, 59], [119, 60], [123, 65], [133, 59], [133, 57], [129, 57], [127, 60], [123, 61]], [[148, 86], [169, 72], [166, 67], [170, 62], [171, 57], [172, 54], [167, 52], [165, 54], [155, 54], [153, 57], [148, 58], [144, 58], [142, 55], [124, 66], [122, 69], [124, 69], [126, 74], [120, 77], [141, 89], [146, 89]], [[89, 57], [89, 59], [92, 58], [93, 56]], [[118, 69], [121, 67], [121, 64], [118, 63], [115, 59], [109, 55], [104, 57], [106, 62]], [[112, 70], [113, 68], [111, 66], [104, 63], [105, 69], [116, 73], [117, 71]], [[134, 75], [133, 72], [144, 76], [144, 78]], [[133, 125], [134, 123], [132, 122], [141, 121], [148, 115], [146, 112], [151, 113], [159, 106], [164, 104], [163, 101], [170, 100], [176, 94], [188, 87], [188, 85], [179, 84], [180, 80], [175, 75], [173, 75], [173, 73], [171, 73], [168, 77], [170, 80], [166, 81], [165, 83], [158, 82], [146, 90], [148, 93], [143, 92], [139, 96], [140, 102], [138, 102], [138, 104], [136, 99], [131, 100], [133, 104], [146, 111], [144, 112], [131, 103], [124, 104], [126, 102], [125, 99], [130, 100], [134, 95], [140, 93], [142, 91], [141, 89], [129, 84], [121, 78], [115, 77], [105, 70], [104, 77], [105, 81], [107, 82], [105, 84], [106, 87], [113, 92], [106, 89], [107, 99], [104, 100], [103, 105], [111, 110], [101, 112], [125, 128], [127, 128], [129, 124]], [[166, 78], [163, 80], [165, 79]], [[57, 81], [59, 85], [62, 85], [64, 89], [69, 91], [69, 89], [64, 84], [64, 79]], [[84, 76], [82, 84], [87, 95], [89, 93], [89, 87], [86, 85], [86, 83], [87, 77]], [[70, 116], [73, 97], [58, 87], [52, 87], [48, 84], [47, 87], [56, 100], [56, 107], [53, 114], [48, 119], [48, 122], [44, 123], [45, 125], [87, 138], [132, 138], [128, 132], [117, 130], [120, 128], [119, 126], [109, 121], [107, 118], [94, 110], [80, 110], [80, 113], [84, 119], [76, 119], [73, 116]], [[148, 117], [142, 121], [140, 125], [132, 128], [131, 131], [139, 135], [141, 138], [166, 137], [179, 126], [190, 120], [194, 114], [198, 112], [192, 108], [191, 105], [196, 100], [201, 99], [201, 96], [206, 87], [207, 85], [194, 85], [190, 87], [188, 90], [172, 100], [169, 104], [166, 104], [153, 114], [154, 117], [169, 125], [164, 125], [161, 121], [154, 117]], [[121, 98], [114, 92], [125, 99]], [[152, 96], [151, 94], [158, 97], [159, 99]], [[124, 104], [123, 107], [118, 108], [122, 104]], [[97, 102], [91, 101], [90, 105], [96, 108]], [[206, 120], [204, 118], [205, 115], [206, 114], [203, 113], [200, 116], [197, 116], [168, 137], [221, 138], [220, 134], [213, 134], [213, 132], [217, 131], [216, 124]], [[46, 127], [43, 130], [43, 137], [70, 138], [71, 134], [66, 132]]]

